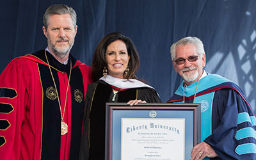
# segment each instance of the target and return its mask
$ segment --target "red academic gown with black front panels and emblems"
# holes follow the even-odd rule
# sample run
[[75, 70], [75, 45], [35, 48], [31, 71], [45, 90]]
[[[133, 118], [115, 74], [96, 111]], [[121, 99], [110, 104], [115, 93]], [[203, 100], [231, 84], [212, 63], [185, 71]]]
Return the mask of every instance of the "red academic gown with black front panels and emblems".
[[[52, 75], [64, 113], [70, 63], [72, 63], [61, 136], [61, 113]], [[48, 51], [15, 58], [0, 76], [0, 159], [78, 159], [84, 101], [90, 67], [69, 56], [61, 64]]]

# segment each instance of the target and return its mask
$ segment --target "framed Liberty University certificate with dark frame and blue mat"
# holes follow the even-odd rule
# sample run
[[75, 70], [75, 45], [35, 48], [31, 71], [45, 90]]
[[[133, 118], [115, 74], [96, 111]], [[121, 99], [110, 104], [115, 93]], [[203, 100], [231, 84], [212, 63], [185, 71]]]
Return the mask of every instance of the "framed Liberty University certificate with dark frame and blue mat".
[[200, 104], [106, 104], [106, 160], [190, 159]]

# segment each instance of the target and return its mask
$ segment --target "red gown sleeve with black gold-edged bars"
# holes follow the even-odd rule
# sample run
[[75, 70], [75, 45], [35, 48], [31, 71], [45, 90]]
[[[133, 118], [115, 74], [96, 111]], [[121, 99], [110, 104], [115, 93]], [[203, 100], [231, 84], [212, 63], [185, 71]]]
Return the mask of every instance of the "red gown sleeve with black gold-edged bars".
[[4, 106], [0, 110], [1, 160], [40, 159], [42, 86], [39, 75], [37, 63], [26, 58], [14, 59], [0, 75], [0, 108]]

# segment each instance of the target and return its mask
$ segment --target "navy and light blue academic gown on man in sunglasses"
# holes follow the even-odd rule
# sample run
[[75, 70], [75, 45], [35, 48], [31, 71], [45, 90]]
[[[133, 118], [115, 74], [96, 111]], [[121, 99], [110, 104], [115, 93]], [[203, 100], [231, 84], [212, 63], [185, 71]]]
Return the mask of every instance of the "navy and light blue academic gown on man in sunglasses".
[[168, 102], [184, 102], [183, 96], [201, 104], [201, 141], [220, 156], [211, 159], [256, 159], [256, 118], [237, 84], [208, 74], [185, 90], [183, 81]]

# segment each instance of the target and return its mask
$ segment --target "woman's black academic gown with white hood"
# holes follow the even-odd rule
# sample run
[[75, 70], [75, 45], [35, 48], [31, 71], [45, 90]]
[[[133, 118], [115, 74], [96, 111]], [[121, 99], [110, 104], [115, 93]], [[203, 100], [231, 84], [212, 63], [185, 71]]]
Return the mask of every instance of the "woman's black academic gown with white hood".
[[[116, 95], [113, 88], [118, 90]], [[127, 81], [108, 75], [88, 85], [79, 159], [104, 159], [106, 102], [129, 102], [134, 99], [161, 102], [154, 88], [136, 79]]]

